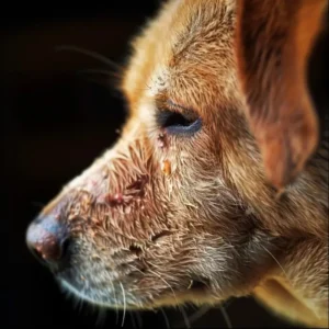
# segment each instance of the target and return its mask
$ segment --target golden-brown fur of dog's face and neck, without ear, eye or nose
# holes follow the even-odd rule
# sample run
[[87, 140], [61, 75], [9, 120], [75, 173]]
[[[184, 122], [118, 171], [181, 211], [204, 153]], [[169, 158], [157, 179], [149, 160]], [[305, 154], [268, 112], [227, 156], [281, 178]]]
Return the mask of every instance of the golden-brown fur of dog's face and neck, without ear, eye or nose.
[[[70, 229], [70, 263], [57, 277], [120, 308], [256, 293], [292, 320], [324, 326], [328, 145], [277, 198], [242, 111], [235, 11], [230, 0], [169, 1], [135, 39], [122, 136], [43, 211]], [[161, 131], [157, 98], [196, 111], [202, 129]]]

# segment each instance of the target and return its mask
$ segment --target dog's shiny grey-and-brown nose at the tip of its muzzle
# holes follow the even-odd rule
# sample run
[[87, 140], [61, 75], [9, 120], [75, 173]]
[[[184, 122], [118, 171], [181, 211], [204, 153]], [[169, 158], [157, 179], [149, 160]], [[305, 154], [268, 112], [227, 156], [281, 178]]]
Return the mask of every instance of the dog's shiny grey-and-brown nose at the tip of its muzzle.
[[52, 215], [41, 216], [29, 226], [26, 243], [43, 263], [56, 266], [67, 251], [66, 226]]

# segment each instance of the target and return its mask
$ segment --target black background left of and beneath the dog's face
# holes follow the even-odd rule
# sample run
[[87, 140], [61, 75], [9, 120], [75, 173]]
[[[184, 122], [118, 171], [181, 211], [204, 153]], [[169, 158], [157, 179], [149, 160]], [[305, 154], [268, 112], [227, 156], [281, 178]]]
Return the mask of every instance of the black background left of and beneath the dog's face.
[[[0, 227], [9, 264], [0, 265], [4, 275], [0, 311], [5, 328], [121, 328], [122, 313], [116, 320], [115, 311], [77, 306], [59, 291], [27, 251], [25, 229], [66, 182], [115, 141], [125, 117], [124, 100], [114, 88], [115, 70], [55, 47], [86, 48], [123, 64], [128, 42], [158, 7], [158, 1], [135, 2], [106, 1], [102, 8], [91, 2], [60, 7], [45, 2], [37, 10], [13, 3], [1, 9]], [[84, 72], [88, 69], [102, 72]], [[225, 309], [234, 328], [287, 327], [251, 298], [229, 300]], [[184, 311], [191, 316], [197, 309]], [[179, 309], [166, 314], [171, 328], [186, 328]], [[168, 327], [160, 310], [127, 313], [124, 328], [141, 326]], [[191, 319], [191, 327], [227, 328], [227, 321], [220, 308], [214, 308], [194, 322]]]

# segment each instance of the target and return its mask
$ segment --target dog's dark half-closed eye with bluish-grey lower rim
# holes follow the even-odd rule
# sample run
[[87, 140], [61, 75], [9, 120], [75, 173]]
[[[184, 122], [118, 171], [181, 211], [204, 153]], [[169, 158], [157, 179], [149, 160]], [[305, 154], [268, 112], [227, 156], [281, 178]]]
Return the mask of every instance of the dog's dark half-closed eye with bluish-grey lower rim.
[[172, 135], [193, 135], [202, 126], [201, 117], [194, 112], [179, 113], [170, 110], [161, 110], [157, 114], [157, 123]]

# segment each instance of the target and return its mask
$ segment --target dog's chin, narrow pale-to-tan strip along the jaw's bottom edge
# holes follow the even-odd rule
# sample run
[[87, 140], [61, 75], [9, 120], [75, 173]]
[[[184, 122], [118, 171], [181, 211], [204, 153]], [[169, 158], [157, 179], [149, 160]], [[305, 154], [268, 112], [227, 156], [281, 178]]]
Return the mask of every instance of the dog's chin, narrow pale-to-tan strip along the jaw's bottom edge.
[[79, 284], [72, 284], [66, 279], [57, 279], [64, 293], [68, 294], [73, 299], [83, 300], [89, 305], [113, 308], [113, 309], [155, 309], [166, 306], [177, 306], [185, 303], [203, 305], [217, 304], [222, 300], [220, 297], [213, 294], [207, 287], [203, 285], [191, 286], [185, 291], [170, 291], [157, 292], [157, 296], [148, 296], [139, 298], [134, 296], [123, 285], [120, 286], [121, 293], [111, 290], [88, 288]]

